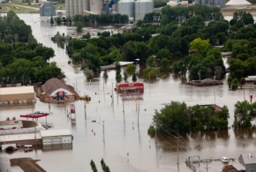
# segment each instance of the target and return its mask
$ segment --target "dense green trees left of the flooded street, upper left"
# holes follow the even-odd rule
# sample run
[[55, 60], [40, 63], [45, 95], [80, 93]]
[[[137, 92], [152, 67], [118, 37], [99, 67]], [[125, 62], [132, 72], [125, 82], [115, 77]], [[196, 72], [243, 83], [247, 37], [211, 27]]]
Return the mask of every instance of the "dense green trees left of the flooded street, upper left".
[[0, 33], [1, 83], [30, 84], [43, 83], [53, 77], [64, 79], [56, 63], [48, 62], [55, 56], [54, 50], [38, 43], [30, 26], [26, 26], [13, 11], [0, 16]]

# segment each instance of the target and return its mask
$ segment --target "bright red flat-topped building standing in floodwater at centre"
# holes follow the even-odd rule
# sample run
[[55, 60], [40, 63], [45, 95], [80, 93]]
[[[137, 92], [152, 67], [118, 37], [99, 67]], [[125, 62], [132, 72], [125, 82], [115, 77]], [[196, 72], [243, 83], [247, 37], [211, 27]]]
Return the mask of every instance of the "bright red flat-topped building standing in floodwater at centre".
[[144, 84], [142, 82], [117, 83], [116, 91], [118, 93], [143, 93]]

